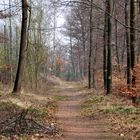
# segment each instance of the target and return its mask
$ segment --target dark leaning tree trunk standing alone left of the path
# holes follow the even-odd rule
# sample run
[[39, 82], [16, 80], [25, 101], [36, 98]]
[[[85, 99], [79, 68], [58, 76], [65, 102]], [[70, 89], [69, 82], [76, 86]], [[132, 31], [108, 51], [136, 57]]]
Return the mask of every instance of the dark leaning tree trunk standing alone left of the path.
[[28, 24], [28, 3], [27, 0], [22, 0], [20, 52], [13, 93], [18, 93], [21, 91], [21, 83], [23, 78], [24, 62], [25, 62], [25, 49], [27, 46], [27, 24]]

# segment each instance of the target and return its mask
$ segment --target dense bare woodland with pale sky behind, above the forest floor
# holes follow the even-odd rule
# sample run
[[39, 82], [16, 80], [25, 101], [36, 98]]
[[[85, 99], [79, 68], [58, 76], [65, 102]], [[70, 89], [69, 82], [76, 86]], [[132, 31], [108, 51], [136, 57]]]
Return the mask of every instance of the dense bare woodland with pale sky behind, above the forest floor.
[[[88, 81], [139, 96], [139, 1], [1, 2], [0, 80], [13, 92], [44, 90], [47, 77]], [[58, 27], [60, 20], [65, 21]], [[121, 89], [121, 86], [126, 88]], [[127, 88], [128, 87], [128, 88]]]

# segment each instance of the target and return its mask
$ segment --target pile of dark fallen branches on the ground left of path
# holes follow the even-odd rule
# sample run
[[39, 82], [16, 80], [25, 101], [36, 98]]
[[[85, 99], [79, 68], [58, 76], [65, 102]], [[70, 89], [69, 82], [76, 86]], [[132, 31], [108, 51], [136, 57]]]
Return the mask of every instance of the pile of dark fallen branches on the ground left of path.
[[23, 109], [18, 114], [1, 121], [0, 128], [0, 134], [2, 135], [20, 135], [32, 133], [54, 135], [56, 133], [54, 126], [50, 124], [44, 125], [35, 121], [35, 119], [30, 116], [28, 109]]

